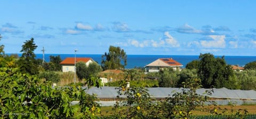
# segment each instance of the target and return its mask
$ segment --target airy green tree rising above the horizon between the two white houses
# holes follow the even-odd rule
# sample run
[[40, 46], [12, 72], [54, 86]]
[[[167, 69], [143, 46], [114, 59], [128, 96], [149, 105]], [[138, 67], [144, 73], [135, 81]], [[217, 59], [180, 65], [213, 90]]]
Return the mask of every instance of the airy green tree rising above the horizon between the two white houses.
[[127, 56], [124, 49], [110, 46], [109, 52], [102, 55], [101, 66], [103, 70], [124, 69], [127, 65]]

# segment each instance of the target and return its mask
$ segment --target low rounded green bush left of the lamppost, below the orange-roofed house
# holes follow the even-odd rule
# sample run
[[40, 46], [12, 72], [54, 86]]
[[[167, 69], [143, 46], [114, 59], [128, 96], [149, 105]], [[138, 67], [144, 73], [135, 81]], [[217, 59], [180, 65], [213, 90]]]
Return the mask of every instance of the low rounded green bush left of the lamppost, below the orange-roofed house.
[[50, 71], [40, 72], [38, 77], [40, 79], [45, 79], [46, 81], [52, 81], [55, 83], [60, 81], [60, 76], [56, 72], [50, 72]]

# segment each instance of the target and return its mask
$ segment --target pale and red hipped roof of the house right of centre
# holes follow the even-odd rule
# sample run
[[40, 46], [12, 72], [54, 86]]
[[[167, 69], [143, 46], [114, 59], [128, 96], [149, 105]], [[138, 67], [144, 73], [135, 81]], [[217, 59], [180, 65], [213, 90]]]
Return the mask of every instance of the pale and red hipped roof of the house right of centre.
[[158, 58], [156, 61], [146, 66], [183, 66], [183, 65], [173, 60], [172, 58]]

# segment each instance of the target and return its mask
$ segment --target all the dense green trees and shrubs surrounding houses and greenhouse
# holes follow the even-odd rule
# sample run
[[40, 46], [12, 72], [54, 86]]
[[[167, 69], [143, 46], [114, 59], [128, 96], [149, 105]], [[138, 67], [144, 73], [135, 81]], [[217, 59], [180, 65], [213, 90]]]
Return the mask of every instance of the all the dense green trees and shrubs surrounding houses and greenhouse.
[[[191, 118], [191, 111], [196, 109], [212, 115], [223, 115], [226, 112], [218, 112], [218, 106], [207, 97], [211, 95], [211, 90], [201, 96], [196, 94], [196, 89], [256, 88], [253, 64], [248, 64], [250, 69], [243, 72], [234, 72], [226, 64], [224, 57], [215, 58], [212, 54], [201, 54], [198, 61], [189, 63], [188, 68], [182, 71], [169, 68], [145, 74], [141, 69], [124, 70], [123, 77], [118, 82], [106, 84], [118, 87], [118, 101], [113, 107], [115, 114], [106, 117], [101, 115], [97, 97], [86, 94], [85, 91], [92, 86], [100, 87], [98, 76], [102, 71], [101, 66], [95, 63], [89, 66], [77, 63], [77, 75], [79, 79], [85, 79], [81, 82], [87, 86], [85, 89], [74, 84], [69, 84], [68, 87], [52, 87], [52, 82], [62, 80], [59, 72], [60, 56], [50, 56], [50, 62], [44, 63], [35, 59], [36, 47], [34, 38], [26, 40], [22, 45], [22, 56], [17, 57], [5, 55], [4, 45], [0, 46], [1, 118]], [[109, 53], [105, 53], [103, 57], [107, 57], [102, 62], [103, 69], [122, 69], [127, 63], [125, 52], [119, 47], [110, 46]], [[115, 62], [119, 64], [114, 65]], [[127, 87], [127, 81], [131, 82], [131, 87]], [[150, 97], [145, 87], [158, 86], [183, 89], [164, 100], [156, 101]], [[73, 101], [79, 103], [72, 106]], [[214, 108], [204, 108], [209, 104]], [[246, 111], [238, 110], [226, 117], [243, 118], [246, 114]]]

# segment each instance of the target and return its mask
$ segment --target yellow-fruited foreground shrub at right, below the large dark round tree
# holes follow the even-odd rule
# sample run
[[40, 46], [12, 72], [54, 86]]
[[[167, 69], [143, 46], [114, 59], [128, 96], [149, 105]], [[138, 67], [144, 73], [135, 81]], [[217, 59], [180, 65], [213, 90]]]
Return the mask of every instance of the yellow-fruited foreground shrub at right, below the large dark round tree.
[[[180, 92], [175, 92], [172, 97], [167, 97], [163, 101], [163, 116], [165, 118], [189, 118], [191, 111], [196, 107], [204, 107], [207, 96], [211, 95], [212, 91], [205, 91], [205, 95], [198, 95], [196, 90], [201, 88], [201, 80], [191, 79], [187, 82], [182, 82], [183, 88]], [[200, 109], [200, 110], [201, 110]]]

